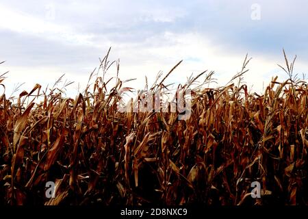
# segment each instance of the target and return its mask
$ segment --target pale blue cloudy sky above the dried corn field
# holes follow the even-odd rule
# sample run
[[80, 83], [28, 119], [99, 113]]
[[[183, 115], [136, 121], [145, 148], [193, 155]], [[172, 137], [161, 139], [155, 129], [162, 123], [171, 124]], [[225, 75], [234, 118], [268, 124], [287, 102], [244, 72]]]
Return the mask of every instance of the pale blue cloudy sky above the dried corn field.
[[[296, 73], [308, 70], [308, 1], [0, 1], [0, 73], [10, 70], [6, 92], [35, 83], [53, 84], [63, 73], [75, 81], [77, 94], [89, 73], [112, 47], [120, 58], [120, 78], [144, 76], [153, 81], [159, 70], [184, 83], [191, 73], [215, 70], [224, 85], [237, 73], [246, 53], [253, 57], [245, 76], [252, 91], [262, 92], [272, 76], [285, 73], [282, 49]], [[109, 73], [113, 77], [115, 69]], [[108, 77], [108, 75], [107, 75]], [[75, 94], [75, 93], [74, 93]]]

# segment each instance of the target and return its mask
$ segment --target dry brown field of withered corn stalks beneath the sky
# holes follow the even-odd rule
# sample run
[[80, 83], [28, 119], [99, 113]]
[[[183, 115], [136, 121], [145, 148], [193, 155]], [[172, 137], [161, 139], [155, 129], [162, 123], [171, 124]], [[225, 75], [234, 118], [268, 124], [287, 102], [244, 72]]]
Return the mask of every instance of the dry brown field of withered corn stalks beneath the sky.
[[[307, 205], [308, 88], [294, 62], [285, 58], [290, 79], [272, 79], [263, 95], [233, 83], [248, 60], [223, 88], [205, 88], [212, 73], [191, 77], [181, 88], [205, 83], [192, 92], [190, 118], [178, 120], [118, 112], [130, 88], [117, 77], [107, 89], [107, 56], [76, 99], [57, 84], [0, 97], [0, 205]], [[167, 92], [166, 77], [149, 90]], [[47, 181], [55, 198], [45, 197]], [[261, 198], [251, 198], [252, 181]]]

